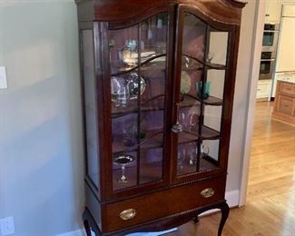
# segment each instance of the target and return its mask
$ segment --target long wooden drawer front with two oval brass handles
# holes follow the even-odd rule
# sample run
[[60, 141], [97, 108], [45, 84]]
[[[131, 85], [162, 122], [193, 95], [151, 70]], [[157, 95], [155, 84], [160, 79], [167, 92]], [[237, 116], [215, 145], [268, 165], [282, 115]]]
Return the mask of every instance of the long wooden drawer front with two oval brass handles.
[[182, 185], [162, 192], [136, 197], [105, 206], [103, 231], [119, 231], [145, 221], [156, 220], [224, 199], [224, 177]]

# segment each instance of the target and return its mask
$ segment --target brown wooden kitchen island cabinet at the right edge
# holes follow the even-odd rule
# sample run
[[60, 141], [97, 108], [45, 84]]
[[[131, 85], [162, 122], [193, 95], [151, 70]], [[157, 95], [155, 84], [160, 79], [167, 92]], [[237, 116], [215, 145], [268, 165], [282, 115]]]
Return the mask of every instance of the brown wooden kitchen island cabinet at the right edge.
[[272, 118], [295, 125], [295, 80], [278, 81]]

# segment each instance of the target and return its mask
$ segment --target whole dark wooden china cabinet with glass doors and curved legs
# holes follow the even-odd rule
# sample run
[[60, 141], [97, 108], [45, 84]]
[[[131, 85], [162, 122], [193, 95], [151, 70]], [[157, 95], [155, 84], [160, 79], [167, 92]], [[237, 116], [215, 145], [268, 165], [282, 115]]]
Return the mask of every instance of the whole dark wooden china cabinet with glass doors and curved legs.
[[84, 226], [161, 231], [221, 209], [241, 9], [234, 0], [76, 0]]

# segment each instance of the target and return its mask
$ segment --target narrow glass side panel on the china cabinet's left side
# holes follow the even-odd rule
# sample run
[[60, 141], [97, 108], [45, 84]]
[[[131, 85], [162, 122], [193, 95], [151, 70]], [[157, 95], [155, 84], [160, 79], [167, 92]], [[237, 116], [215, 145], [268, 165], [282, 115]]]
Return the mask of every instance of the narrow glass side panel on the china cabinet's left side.
[[86, 151], [87, 151], [87, 174], [98, 186], [98, 149], [97, 149], [97, 116], [96, 116], [96, 96], [95, 96], [95, 77], [93, 60], [93, 31], [84, 30], [83, 40], [83, 66], [84, 66], [84, 105], [86, 123]]

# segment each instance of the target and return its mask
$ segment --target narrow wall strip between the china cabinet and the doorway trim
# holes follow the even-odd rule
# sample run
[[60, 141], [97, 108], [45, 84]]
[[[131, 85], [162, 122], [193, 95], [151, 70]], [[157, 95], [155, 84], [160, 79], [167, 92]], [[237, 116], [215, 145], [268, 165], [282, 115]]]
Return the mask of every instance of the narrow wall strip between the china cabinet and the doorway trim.
[[[252, 43], [254, 39], [253, 37], [255, 36], [254, 26], [256, 27], [254, 21], [257, 1], [258, 0], [248, 1], [248, 4], [242, 12], [241, 38], [231, 124], [227, 192], [240, 191], [241, 188], [241, 165], [247, 123], [246, 112], [248, 109], [249, 86], [251, 84], [251, 79], [253, 79], [251, 78], [251, 60], [253, 53]], [[237, 201], [237, 205], [239, 200], [235, 200]]]

